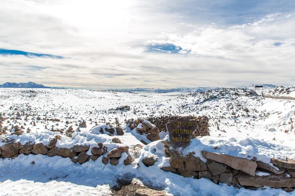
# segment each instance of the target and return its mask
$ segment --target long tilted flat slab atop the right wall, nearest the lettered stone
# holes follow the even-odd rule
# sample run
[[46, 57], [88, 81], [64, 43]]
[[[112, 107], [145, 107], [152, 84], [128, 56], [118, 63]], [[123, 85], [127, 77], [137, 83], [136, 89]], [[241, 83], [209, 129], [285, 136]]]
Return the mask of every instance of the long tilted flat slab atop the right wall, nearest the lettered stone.
[[[257, 163], [248, 159], [230, 156], [227, 154], [218, 154], [214, 152], [207, 152], [202, 150], [203, 156], [207, 159], [217, 161], [218, 163], [226, 164], [236, 170], [243, 171], [252, 176], [255, 176]], [[214, 174], [213, 174], [214, 175]]]

